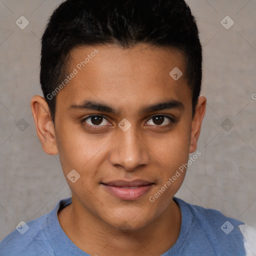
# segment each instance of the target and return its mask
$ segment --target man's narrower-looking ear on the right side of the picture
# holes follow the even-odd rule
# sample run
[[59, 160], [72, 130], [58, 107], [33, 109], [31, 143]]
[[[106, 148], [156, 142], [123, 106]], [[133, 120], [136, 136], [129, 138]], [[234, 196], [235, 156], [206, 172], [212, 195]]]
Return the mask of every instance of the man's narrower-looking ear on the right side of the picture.
[[205, 109], [206, 109], [206, 98], [201, 96], [198, 98], [198, 103], [196, 105], [195, 113], [192, 120], [189, 153], [192, 153], [196, 150], [197, 140], [199, 138], [202, 119], [205, 114]]

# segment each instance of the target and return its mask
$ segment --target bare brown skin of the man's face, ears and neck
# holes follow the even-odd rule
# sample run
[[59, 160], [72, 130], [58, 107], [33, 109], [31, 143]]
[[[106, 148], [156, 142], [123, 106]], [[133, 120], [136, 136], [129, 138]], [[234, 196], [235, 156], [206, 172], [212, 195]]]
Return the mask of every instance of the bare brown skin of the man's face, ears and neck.
[[[181, 213], [172, 197], [185, 171], [157, 198], [149, 201], [196, 150], [206, 98], [199, 97], [192, 117], [192, 91], [179, 52], [138, 44], [121, 49], [114, 45], [80, 46], [71, 52], [70, 72], [95, 48], [99, 52], [56, 96], [53, 125], [45, 99], [35, 95], [31, 109], [43, 150], [59, 154], [72, 192], [72, 203], [58, 211], [59, 223], [81, 250], [91, 255], [160, 255], [177, 240]], [[119, 110], [70, 108], [90, 99]], [[143, 106], [178, 100], [183, 107], [140, 113]], [[91, 114], [103, 114], [99, 125]], [[162, 123], [153, 116], [165, 114]], [[131, 127], [118, 123], [126, 118]], [[94, 124], [94, 126], [93, 126]], [[93, 129], [93, 127], [94, 129]], [[75, 169], [80, 178], [72, 183], [67, 174]], [[116, 179], [146, 179], [154, 184], [135, 200], [122, 200], [101, 184]]]

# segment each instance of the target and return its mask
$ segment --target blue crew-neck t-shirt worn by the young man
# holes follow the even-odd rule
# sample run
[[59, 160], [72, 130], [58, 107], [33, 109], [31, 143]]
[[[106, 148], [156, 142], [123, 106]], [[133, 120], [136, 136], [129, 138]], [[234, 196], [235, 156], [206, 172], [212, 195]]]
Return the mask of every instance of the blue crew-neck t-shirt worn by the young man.
[[[250, 254], [252, 248], [245, 244], [244, 231], [240, 229], [245, 226], [243, 222], [176, 197], [173, 200], [181, 210], [180, 233], [175, 244], [161, 256], [256, 255]], [[57, 211], [70, 203], [71, 197], [60, 200], [51, 212], [20, 223], [0, 242], [0, 256], [89, 256], [66, 236], [58, 222]]]

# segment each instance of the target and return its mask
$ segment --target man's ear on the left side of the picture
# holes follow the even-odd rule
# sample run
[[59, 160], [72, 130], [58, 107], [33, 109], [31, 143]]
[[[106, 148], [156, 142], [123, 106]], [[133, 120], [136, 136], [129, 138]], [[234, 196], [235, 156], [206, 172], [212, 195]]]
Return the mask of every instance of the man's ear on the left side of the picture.
[[55, 129], [47, 102], [43, 97], [35, 95], [31, 98], [31, 110], [42, 149], [47, 154], [57, 154]]

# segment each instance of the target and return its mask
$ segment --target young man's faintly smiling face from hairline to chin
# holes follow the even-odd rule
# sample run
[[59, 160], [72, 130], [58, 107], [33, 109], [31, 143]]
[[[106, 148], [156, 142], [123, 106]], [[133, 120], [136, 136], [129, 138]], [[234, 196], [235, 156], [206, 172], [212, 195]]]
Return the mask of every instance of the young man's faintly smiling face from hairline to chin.
[[145, 44], [83, 46], [69, 67], [54, 138], [73, 201], [110, 226], [139, 229], [167, 208], [185, 170], [169, 178], [195, 149], [192, 91], [183, 75], [169, 75], [184, 73], [183, 57]]

